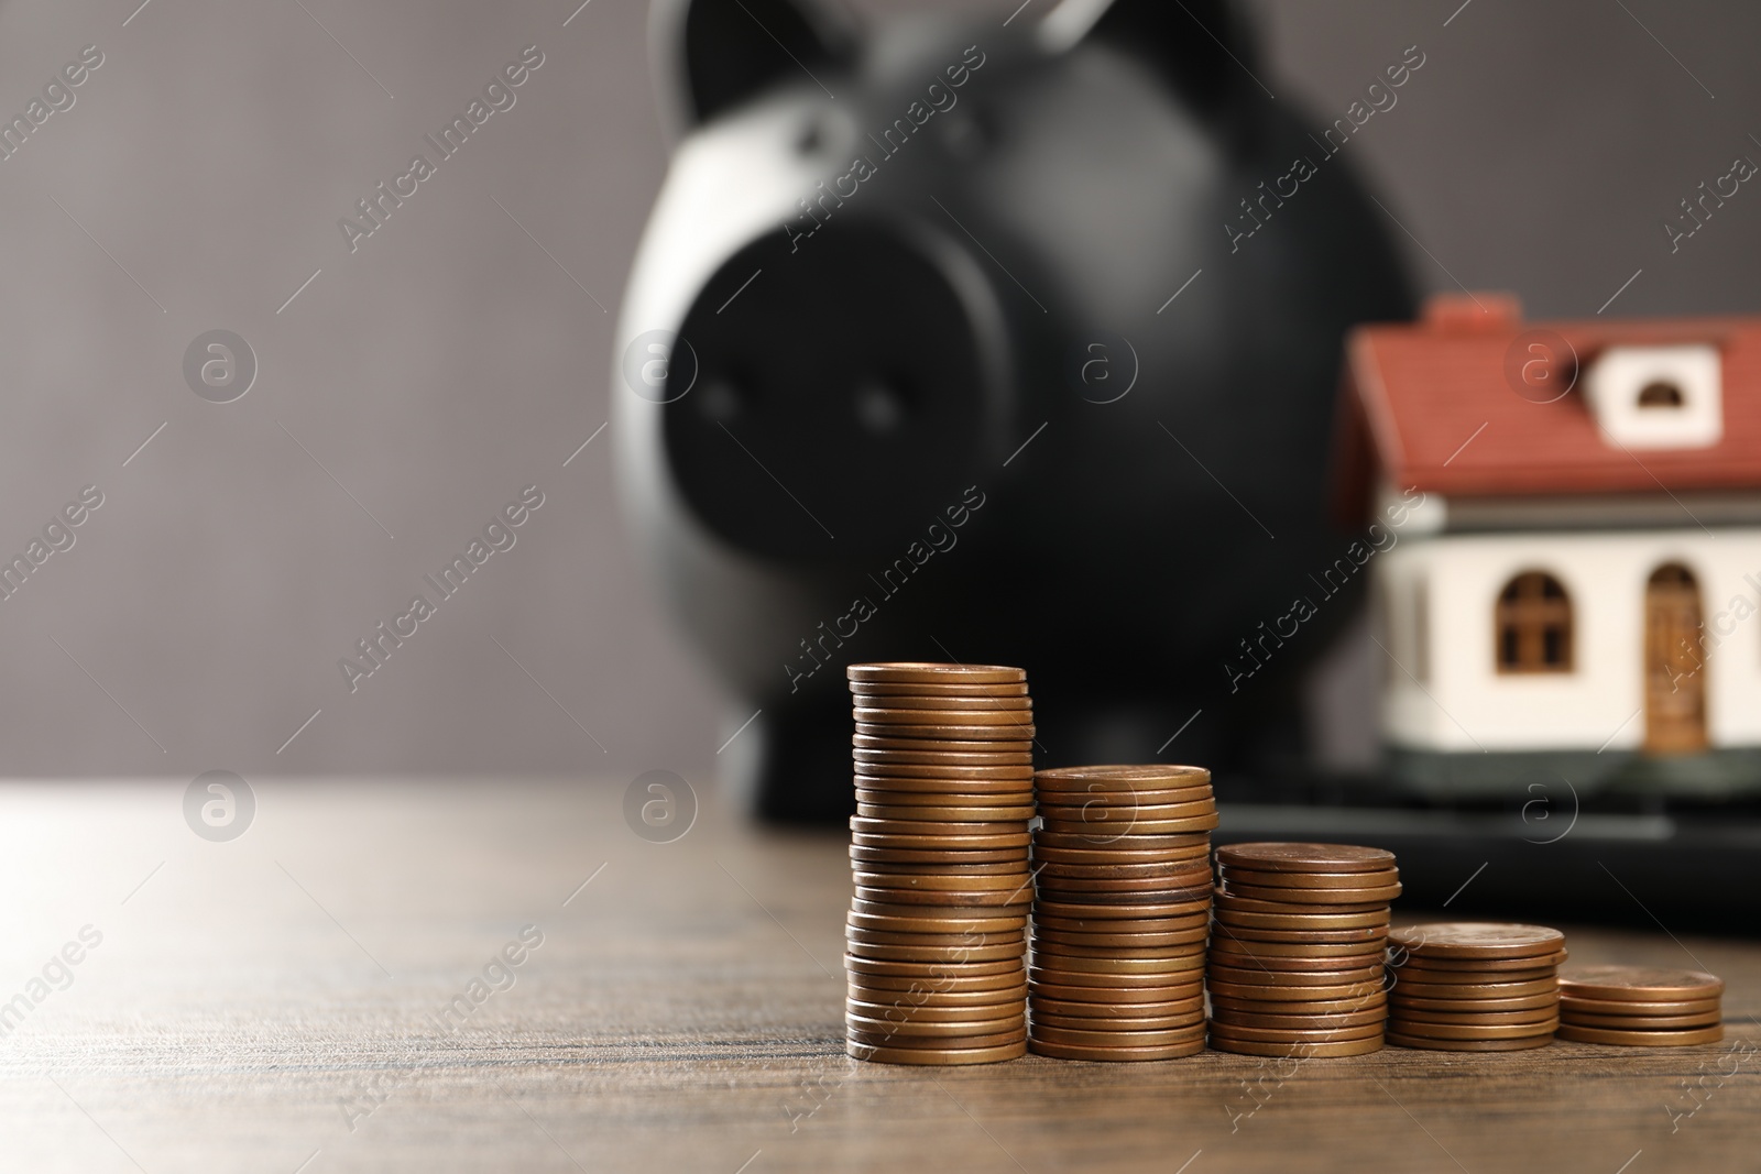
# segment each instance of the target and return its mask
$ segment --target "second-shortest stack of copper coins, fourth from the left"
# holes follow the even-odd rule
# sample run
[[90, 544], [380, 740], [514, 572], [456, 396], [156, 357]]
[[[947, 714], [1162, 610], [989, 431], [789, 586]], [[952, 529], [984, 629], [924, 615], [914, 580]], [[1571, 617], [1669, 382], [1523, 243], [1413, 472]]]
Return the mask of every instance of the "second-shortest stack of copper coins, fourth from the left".
[[1388, 940], [1389, 1044], [1504, 1053], [1553, 1042], [1566, 961], [1558, 929], [1435, 922], [1402, 926]]

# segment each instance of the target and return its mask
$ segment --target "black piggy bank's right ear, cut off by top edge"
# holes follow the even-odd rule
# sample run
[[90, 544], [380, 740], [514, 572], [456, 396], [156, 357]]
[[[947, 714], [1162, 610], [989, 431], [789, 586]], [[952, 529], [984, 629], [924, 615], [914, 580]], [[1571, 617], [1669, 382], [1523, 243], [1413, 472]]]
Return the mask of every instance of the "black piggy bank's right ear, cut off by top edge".
[[1050, 49], [1109, 44], [1150, 63], [1199, 113], [1217, 114], [1256, 81], [1252, 30], [1233, 0], [1064, 0], [1041, 21]]

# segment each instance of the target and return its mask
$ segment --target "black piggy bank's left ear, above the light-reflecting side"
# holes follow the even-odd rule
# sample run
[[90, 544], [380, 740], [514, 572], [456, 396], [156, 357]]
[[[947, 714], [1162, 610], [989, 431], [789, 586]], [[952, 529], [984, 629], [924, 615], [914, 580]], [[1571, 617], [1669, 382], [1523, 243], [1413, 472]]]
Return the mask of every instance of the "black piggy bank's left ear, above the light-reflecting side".
[[778, 81], [814, 84], [852, 56], [856, 30], [814, 0], [653, 0], [648, 42], [676, 139]]

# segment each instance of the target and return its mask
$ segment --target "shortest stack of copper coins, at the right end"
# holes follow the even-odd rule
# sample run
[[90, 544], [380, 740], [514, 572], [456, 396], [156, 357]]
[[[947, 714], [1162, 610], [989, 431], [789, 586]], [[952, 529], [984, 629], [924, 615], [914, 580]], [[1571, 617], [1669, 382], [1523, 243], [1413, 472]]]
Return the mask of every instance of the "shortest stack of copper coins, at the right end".
[[1699, 970], [1574, 966], [1558, 977], [1558, 1038], [1671, 1047], [1724, 1038], [1724, 979]]

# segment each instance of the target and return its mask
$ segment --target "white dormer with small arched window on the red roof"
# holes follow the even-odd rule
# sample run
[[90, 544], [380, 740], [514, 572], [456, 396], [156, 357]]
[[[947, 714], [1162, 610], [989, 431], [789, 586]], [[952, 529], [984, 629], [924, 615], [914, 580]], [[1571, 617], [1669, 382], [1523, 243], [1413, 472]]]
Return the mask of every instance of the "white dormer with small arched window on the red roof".
[[1722, 363], [1710, 343], [1610, 347], [1585, 393], [1603, 438], [1622, 449], [1705, 449], [1724, 438]]

